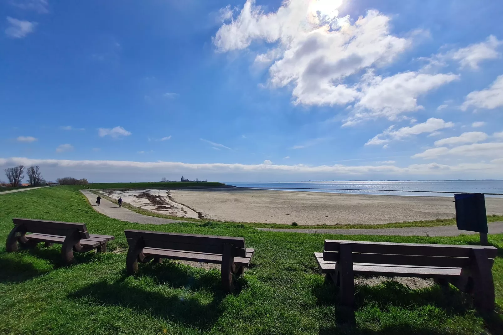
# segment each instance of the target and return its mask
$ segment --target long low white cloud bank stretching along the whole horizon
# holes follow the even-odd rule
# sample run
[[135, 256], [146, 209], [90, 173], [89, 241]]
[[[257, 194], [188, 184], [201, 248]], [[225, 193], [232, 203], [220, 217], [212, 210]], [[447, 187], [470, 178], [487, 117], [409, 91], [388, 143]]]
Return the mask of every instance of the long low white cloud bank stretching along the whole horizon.
[[[503, 143], [501, 143], [503, 144]], [[121, 176], [123, 181], [131, 178], [150, 180], [152, 176], [162, 176], [169, 171], [175, 178], [179, 174], [197, 173], [208, 180], [223, 180], [233, 178], [235, 181], [260, 178], [261, 180], [291, 180], [292, 178], [344, 178], [347, 176], [431, 176], [437, 175], [467, 176], [482, 178], [500, 177], [500, 164], [493, 163], [461, 163], [457, 165], [439, 164], [411, 164], [406, 167], [395, 165], [357, 165], [342, 164], [308, 166], [276, 165], [276, 164], [227, 164], [227, 163], [182, 163], [182, 162], [140, 162], [119, 160], [66, 160], [66, 159], [31, 159], [26, 157], [0, 158], [0, 168], [23, 164], [26, 166], [40, 165], [44, 170], [44, 177], [56, 179], [57, 176], [72, 175], [75, 178], [88, 178], [94, 181], [107, 181]], [[166, 176], [167, 177], [167, 176]], [[160, 177], [159, 177], [160, 178]], [[410, 177], [409, 177], [410, 178]]]

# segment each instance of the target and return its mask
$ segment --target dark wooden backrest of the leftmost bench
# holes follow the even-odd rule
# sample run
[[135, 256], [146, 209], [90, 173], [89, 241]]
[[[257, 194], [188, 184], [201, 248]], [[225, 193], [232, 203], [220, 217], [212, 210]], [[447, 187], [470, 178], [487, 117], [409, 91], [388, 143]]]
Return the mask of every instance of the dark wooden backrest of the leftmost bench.
[[34, 219], [12, 219], [15, 225], [22, 225], [22, 230], [25, 232], [68, 236], [78, 232], [80, 238], [88, 239], [89, 232], [85, 223], [46, 221]]

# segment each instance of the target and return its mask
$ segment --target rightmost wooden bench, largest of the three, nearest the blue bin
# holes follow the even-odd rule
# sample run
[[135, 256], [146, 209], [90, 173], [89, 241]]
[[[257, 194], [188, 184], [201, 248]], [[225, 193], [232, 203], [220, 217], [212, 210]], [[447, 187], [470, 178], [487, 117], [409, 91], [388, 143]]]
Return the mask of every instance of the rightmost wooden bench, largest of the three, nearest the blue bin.
[[497, 248], [482, 245], [325, 240], [314, 253], [325, 282], [340, 286], [343, 306], [354, 305], [354, 275], [423, 277], [472, 293], [482, 309], [494, 308], [492, 264]]

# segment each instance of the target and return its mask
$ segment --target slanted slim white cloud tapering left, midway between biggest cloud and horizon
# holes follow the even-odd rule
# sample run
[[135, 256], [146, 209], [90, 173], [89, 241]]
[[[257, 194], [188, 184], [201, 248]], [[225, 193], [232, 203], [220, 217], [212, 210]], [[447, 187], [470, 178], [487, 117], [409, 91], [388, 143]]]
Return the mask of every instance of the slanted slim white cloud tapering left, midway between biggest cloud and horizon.
[[365, 145], [383, 144], [391, 140], [400, 140], [408, 136], [419, 135], [423, 133], [434, 133], [437, 130], [454, 127], [454, 123], [445, 122], [442, 119], [429, 118], [426, 122], [418, 123], [412, 127], [403, 127], [393, 130], [394, 125], [383, 131], [381, 134], [369, 139]]

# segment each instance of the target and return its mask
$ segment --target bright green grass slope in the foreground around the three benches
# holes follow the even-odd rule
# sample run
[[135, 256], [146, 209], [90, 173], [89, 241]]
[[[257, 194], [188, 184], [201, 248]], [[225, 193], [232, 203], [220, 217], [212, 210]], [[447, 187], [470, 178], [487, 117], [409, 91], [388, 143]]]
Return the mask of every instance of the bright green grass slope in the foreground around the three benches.
[[[0, 237], [13, 217], [84, 222], [92, 233], [113, 234], [105, 254], [75, 254], [61, 264], [59, 250], [39, 246], [6, 253], [0, 246], [0, 333], [4, 334], [486, 334], [503, 329], [503, 234], [493, 266], [498, 313], [479, 314], [454, 288], [410, 290], [395, 282], [357, 287], [356, 326], [339, 325], [337, 289], [323, 284], [314, 252], [325, 238], [418, 243], [477, 243], [478, 236], [343, 236], [265, 232], [242, 224], [140, 225], [94, 211], [79, 187], [7, 194], [0, 199]], [[252, 266], [225, 296], [218, 270], [174, 262], [124, 272], [124, 229], [245, 237], [256, 248]]]

